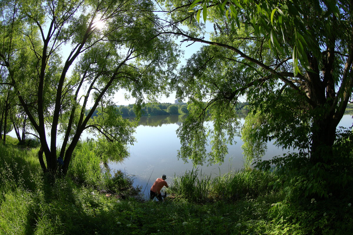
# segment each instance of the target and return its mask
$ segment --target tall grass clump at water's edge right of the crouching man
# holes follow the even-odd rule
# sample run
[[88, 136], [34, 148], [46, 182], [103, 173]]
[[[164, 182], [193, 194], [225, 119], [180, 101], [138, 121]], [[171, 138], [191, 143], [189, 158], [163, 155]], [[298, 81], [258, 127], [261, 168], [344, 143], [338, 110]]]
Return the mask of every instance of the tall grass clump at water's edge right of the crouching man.
[[174, 177], [173, 186], [168, 191], [194, 202], [214, 200], [235, 200], [244, 197], [257, 197], [270, 192], [270, 183], [276, 180], [274, 172], [243, 169], [212, 177], [198, 169]]

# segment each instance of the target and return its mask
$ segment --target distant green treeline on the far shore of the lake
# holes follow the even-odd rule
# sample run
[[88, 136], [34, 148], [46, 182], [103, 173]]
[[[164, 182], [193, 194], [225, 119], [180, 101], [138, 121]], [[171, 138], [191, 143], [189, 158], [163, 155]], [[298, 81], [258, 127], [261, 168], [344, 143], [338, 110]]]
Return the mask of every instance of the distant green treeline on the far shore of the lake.
[[[135, 111], [133, 109], [133, 104], [129, 104], [127, 106], [117, 105], [115, 107], [116, 112], [120, 113], [123, 117], [135, 117]], [[235, 109], [242, 111], [248, 110], [248, 103], [247, 102], [239, 102]], [[89, 110], [88, 110], [89, 111]], [[87, 113], [88, 113], [87, 111]], [[95, 110], [92, 117], [97, 116], [98, 109]], [[186, 103], [178, 103], [178, 104], [171, 104], [171, 103], [147, 103], [141, 109], [142, 116], [156, 116], [156, 115], [171, 115], [171, 114], [184, 114], [189, 113], [187, 109]]]

